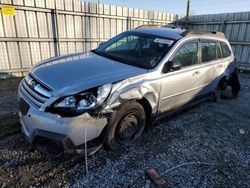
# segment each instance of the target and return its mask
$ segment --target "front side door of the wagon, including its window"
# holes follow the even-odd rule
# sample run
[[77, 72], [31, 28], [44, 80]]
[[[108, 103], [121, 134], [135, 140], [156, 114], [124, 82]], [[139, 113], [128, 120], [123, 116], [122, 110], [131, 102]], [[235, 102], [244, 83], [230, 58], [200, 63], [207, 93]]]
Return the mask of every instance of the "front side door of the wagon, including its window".
[[191, 102], [200, 92], [199, 42], [184, 43], [170, 62], [179, 61], [180, 70], [162, 73], [159, 114], [176, 110]]

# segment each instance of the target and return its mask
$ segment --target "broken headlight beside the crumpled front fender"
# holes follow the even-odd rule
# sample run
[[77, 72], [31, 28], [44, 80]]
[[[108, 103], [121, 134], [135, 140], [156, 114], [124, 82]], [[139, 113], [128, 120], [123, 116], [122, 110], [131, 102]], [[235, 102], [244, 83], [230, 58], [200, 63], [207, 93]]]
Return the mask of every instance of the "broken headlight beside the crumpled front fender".
[[107, 84], [76, 95], [67, 96], [56, 101], [48, 111], [63, 116], [80, 115], [103, 104], [111, 89], [112, 85]]

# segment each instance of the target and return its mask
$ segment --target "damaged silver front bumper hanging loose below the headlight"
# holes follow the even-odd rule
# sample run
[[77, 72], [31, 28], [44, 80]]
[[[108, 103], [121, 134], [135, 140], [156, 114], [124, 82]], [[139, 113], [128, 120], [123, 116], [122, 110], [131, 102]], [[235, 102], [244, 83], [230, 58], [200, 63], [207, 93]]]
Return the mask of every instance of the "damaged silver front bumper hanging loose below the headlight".
[[[20, 94], [18, 100], [19, 104], [24, 100]], [[108, 123], [104, 116], [92, 117], [84, 113], [76, 117], [62, 117], [39, 111], [32, 105], [25, 114], [20, 111], [18, 115], [26, 140], [36, 149], [52, 155], [85, 153], [85, 143], [98, 138]], [[88, 154], [101, 147], [101, 144], [91, 145], [87, 148]]]

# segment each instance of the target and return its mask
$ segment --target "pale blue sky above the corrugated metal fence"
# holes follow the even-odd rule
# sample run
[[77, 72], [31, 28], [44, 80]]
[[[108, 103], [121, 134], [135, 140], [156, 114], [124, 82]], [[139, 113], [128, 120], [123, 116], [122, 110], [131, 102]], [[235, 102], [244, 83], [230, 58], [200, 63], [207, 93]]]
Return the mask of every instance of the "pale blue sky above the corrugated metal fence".
[[[100, 0], [100, 3], [185, 15], [187, 0]], [[250, 0], [190, 0], [191, 15], [245, 11], [250, 11]]]

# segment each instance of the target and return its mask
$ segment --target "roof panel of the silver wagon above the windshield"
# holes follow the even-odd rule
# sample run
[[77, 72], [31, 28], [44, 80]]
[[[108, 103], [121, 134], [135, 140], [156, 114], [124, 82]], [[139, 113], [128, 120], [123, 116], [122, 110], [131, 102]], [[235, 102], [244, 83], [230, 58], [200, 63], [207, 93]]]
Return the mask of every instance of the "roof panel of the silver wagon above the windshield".
[[136, 33], [155, 35], [173, 40], [179, 40], [180, 38], [183, 37], [182, 34], [186, 30], [161, 27], [161, 28], [139, 28], [139, 29], [133, 29], [131, 31]]

